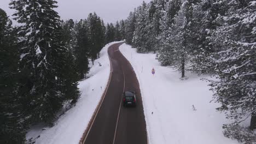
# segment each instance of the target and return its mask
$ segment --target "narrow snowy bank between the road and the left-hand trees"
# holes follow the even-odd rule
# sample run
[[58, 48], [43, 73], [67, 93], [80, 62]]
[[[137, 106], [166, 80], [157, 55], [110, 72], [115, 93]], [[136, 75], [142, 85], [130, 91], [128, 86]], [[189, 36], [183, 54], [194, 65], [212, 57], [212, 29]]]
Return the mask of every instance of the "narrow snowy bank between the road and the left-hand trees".
[[31, 128], [27, 133], [27, 140], [32, 138], [40, 144], [79, 143], [107, 85], [110, 73], [107, 49], [114, 43], [118, 42], [107, 44], [102, 49], [101, 57], [90, 69], [90, 78], [79, 82], [81, 98], [77, 104], [62, 115], [54, 127], [44, 128], [38, 124]]

